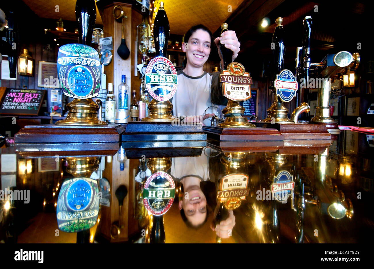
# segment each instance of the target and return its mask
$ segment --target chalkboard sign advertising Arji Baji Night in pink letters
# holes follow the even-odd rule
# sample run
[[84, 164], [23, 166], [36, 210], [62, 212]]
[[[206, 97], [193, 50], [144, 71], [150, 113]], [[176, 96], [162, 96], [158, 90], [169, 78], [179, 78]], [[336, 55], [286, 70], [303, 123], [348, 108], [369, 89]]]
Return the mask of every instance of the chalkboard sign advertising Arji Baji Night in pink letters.
[[10, 89], [4, 93], [0, 114], [37, 116], [46, 90]]

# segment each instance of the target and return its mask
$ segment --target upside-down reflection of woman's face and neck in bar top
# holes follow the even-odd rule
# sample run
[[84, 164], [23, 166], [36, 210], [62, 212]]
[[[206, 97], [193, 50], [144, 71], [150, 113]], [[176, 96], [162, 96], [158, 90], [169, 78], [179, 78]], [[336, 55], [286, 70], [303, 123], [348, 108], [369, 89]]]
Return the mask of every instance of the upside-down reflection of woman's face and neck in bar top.
[[185, 185], [187, 188], [184, 189], [183, 200], [179, 202], [179, 209], [183, 208], [186, 218], [193, 226], [199, 226], [206, 219], [205, 195], [195, 177], [183, 179], [183, 187]]

